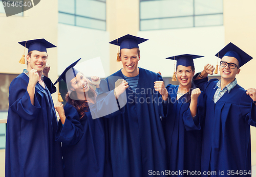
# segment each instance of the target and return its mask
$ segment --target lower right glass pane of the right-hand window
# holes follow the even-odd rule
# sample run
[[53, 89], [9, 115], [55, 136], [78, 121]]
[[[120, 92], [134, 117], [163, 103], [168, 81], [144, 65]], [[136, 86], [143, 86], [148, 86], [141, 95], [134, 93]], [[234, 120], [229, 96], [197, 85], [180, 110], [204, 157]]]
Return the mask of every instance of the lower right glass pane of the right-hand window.
[[195, 16], [195, 27], [223, 25], [223, 15]]

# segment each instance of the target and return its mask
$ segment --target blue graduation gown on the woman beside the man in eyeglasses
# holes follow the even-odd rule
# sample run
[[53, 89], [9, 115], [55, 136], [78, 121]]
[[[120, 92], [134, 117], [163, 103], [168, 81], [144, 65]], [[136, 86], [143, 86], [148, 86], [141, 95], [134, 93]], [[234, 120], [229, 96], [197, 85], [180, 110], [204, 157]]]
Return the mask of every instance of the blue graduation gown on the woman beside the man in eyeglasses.
[[[167, 105], [162, 113], [162, 125], [165, 136], [167, 165], [169, 174], [172, 176], [183, 176], [179, 171], [200, 172], [202, 131], [201, 123], [204, 120], [205, 96], [204, 93], [198, 97], [197, 114], [193, 120], [189, 105], [189, 92], [182, 95], [178, 100], [177, 92], [179, 86], [168, 84], [166, 89], [169, 93]], [[188, 96], [188, 97], [187, 97]], [[159, 98], [161, 99], [162, 96]], [[189, 101], [187, 101], [189, 100]], [[184, 176], [191, 176], [184, 173]]]

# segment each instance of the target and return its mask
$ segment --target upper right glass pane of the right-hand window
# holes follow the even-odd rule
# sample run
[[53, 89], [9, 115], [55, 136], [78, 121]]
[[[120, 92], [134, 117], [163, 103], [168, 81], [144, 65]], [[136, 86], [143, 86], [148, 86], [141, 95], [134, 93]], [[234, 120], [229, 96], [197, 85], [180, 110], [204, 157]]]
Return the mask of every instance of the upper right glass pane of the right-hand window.
[[195, 0], [195, 15], [223, 13], [223, 0]]

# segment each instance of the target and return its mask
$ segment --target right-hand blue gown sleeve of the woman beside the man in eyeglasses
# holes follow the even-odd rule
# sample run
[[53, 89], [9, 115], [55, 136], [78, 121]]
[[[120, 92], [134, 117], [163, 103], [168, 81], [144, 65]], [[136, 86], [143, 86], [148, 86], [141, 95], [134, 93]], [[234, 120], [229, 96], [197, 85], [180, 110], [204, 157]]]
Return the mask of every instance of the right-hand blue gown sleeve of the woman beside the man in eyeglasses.
[[201, 122], [204, 120], [205, 116], [205, 102], [206, 97], [204, 92], [201, 92], [200, 96], [198, 97], [198, 104], [197, 104], [197, 114], [193, 117], [191, 116], [190, 108], [185, 111], [182, 115], [182, 119], [185, 125], [186, 131], [190, 130], [201, 130]]

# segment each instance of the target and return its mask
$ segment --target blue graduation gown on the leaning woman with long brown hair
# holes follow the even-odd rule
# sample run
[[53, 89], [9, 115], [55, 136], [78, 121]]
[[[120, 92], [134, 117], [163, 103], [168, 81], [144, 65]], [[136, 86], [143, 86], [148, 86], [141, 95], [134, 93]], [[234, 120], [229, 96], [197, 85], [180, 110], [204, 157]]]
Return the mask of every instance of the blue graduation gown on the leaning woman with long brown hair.
[[[93, 106], [90, 106], [92, 109]], [[56, 140], [62, 142], [65, 176], [112, 176], [105, 158], [105, 134], [102, 118], [93, 119], [86, 112], [81, 119], [70, 103], [64, 107], [66, 120], [59, 126]]]

